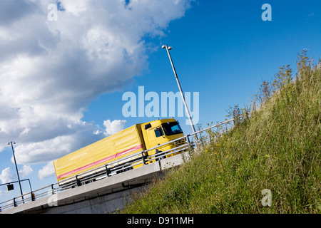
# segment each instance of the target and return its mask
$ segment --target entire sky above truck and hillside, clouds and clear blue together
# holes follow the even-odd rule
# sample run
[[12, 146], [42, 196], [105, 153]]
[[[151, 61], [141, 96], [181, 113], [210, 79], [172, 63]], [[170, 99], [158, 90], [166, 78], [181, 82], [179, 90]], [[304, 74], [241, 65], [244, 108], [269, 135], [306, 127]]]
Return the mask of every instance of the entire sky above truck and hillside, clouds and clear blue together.
[[[248, 104], [263, 80], [270, 80], [280, 66], [290, 64], [295, 69], [297, 53], [302, 49], [309, 49], [308, 55], [316, 60], [321, 58], [321, 1], [317, 0], [178, 1], [180, 4], [167, 1], [161, 6], [159, 2], [155, 6], [144, 6], [145, 1], [141, 1], [141, 11], [137, 14], [138, 6], [130, 1], [126, 6], [132, 7], [131, 11], [126, 11], [128, 15], [117, 4], [108, 3], [106, 11], [91, 14], [91, 10], [96, 10], [94, 6], [103, 4], [102, 1], [90, 6], [86, 1], [79, 1], [83, 5], [75, 6], [65, 0], [60, 4], [64, 11], [59, 12], [58, 21], [54, 23], [46, 20], [36, 23], [32, 17], [27, 17], [46, 19], [46, 6], [51, 1], [24, 2], [30, 6], [24, 9], [29, 11], [21, 9], [22, 14], [18, 16], [9, 13], [20, 6], [8, 6], [8, 14], [0, 10], [0, 19], [6, 20], [6, 24], [0, 22], [0, 95], [4, 100], [0, 102], [4, 107], [0, 114], [0, 177], [3, 177], [1, 180], [9, 177], [11, 181], [16, 180], [11, 148], [6, 147], [6, 142], [14, 140], [19, 170], [26, 171], [21, 179], [30, 178], [34, 189], [56, 182], [52, 170], [51, 175], [45, 175], [46, 164], [106, 137], [105, 120], [126, 120], [126, 125], [121, 127], [127, 128], [155, 119], [125, 118], [122, 108], [126, 101], [122, 96], [126, 91], [138, 95], [138, 86], [144, 86], [146, 93], [153, 91], [160, 96], [161, 92], [178, 91], [168, 55], [161, 48], [163, 44], [173, 47], [170, 53], [183, 91], [200, 94], [199, 123], [203, 126], [224, 120], [229, 106]], [[261, 19], [261, 7], [265, 3], [272, 6], [272, 21]], [[41, 9], [42, 14], [33, 10], [36, 8]], [[153, 14], [144, 9], [150, 9]], [[115, 23], [108, 15], [118, 11], [121, 14], [117, 14]], [[138, 14], [140, 12], [146, 16]], [[73, 24], [79, 21], [79, 16], [82, 16], [79, 22], [83, 23], [82, 27]], [[96, 18], [106, 20], [102, 24], [105, 30], [88, 28], [88, 33], [83, 33], [81, 29], [86, 28], [83, 25], [90, 24], [86, 16], [92, 16], [93, 21]], [[146, 22], [146, 18], [151, 21]], [[126, 25], [136, 20], [133, 26]], [[27, 22], [34, 32], [24, 29]], [[9, 32], [19, 26], [21, 29], [9, 39]], [[86, 39], [76, 41], [76, 37], [83, 34]], [[24, 41], [19, 40], [20, 36], [25, 37]], [[108, 53], [99, 46], [100, 38], [105, 36]], [[39, 42], [34, 42], [35, 39]], [[93, 41], [97, 45], [94, 48], [90, 43]], [[91, 44], [91, 48], [86, 49], [87, 44]], [[86, 53], [90, 58], [83, 57], [81, 45], [85, 46], [85, 51], [89, 50]], [[103, 46], [106, 47], [106, 43]], [[118, 50], [126, 50], [128, 54], [118, 56]], [[4, 60], [6, 53], [9, 61]], [[113, 58], [109, 54], [113, 54]], [[98, 58], [99, 55], [103, 58]], [[46, 65], [41, 59], [53, 62]], [[101, 59], [106, 59], [108, 68]], [[24, 66], [24, 71], [31, 73], [19, 78], [8, 70], [14, 66]], [[54, 73], [50, 74], [51, 71]], [[10, 80], [9, 84], [3, 83], [8, 76], [26, 81], [17, 84], [15, 78], [12, 83]], [[92, 90], [86, 90], [91, 87]], [[16, 113], [13, 110], [17, 110]], [[184, 132], [191, 133], [185, 119], [178, 118]], [[99, 134], [93, 135], [96, 130]], [[6, 174], [4, 170], [8, 167], [10, 172]], [[47, 168], [50, 170], [49, 165]], [[39, 170], [43, 170], [44, 177], [39, 177]], [[18, 186], [15, 188], [8, 193], [5, 187], [0, 187], [0, 201], [19, 195]], [[23, 189], [29, 191], [27, 183]]]

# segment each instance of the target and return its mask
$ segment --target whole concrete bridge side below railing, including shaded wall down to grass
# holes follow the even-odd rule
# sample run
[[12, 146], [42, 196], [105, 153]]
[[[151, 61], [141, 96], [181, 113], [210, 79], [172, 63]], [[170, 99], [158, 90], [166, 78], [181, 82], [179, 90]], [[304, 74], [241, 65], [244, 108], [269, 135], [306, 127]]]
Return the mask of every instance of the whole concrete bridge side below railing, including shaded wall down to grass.
[[181, 165], [187, 152], [168, 157], [149, 165], [106, 177], [87, 185], [58, 192], [55, 195], [6, 209], [0, 214], [17, 213], [110, 213], [122, 209], [134, 191], [142, 190], [154, 178], [163, 175], [162, 170]]

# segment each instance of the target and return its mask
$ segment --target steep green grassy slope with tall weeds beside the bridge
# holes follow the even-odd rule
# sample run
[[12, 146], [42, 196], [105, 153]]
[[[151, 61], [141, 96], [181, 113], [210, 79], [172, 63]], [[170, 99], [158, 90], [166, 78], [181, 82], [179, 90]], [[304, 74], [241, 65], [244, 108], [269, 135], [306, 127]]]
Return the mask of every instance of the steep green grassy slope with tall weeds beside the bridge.
[[320, 63], [302, 51], [294, 78], [280, 68], [251, 109], [230, 110], [245, 115], [230, 133], [133, 195], [122, 213], [320, 213]]

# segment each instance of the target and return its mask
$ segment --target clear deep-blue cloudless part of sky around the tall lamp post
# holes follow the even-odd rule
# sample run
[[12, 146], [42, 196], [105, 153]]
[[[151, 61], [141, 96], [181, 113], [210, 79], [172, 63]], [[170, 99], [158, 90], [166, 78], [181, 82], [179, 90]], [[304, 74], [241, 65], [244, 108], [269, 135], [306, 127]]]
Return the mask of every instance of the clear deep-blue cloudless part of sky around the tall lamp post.
[[[138, 86], [145, 86], [146, 93], [177, 92], [167, 53], [161, 49], [162, 44], [173, 46], [170, 53], [183, 91], [200, 92], [200, 123], [206, 125], [224, 120], [230, 105], [247, 104], [280, 66], [290, 64], [295, 69], [297, 53], [303, 48], [320, 58], [319, 1], [270, 1], [272, 21], [261, 19], [264, 3], [196, 1], [182, 19], [170, 22], [165, 37], [146, 37], [158, 49], [148, 55], [148, 70], [126, 90], [138, 93]], [[85, 120], [103, 123], [107, 115], [121, 118], [126, 103], [122, 95], [123, 91], [93, 101]], [[98, 111], [110, 102], [114, 108]], [[129, 126], [149, 119], [126, 120]], [[183, 128], [190, 133], [189, 126]]]

